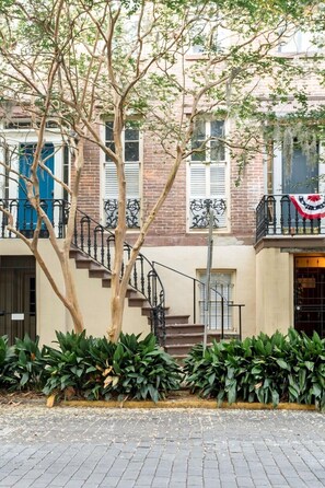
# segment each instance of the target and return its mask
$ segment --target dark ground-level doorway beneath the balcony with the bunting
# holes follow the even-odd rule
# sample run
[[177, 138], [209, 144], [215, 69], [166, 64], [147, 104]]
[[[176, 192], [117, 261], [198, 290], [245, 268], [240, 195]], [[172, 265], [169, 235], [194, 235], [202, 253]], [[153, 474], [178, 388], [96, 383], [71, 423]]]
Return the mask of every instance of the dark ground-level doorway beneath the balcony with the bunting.
[[325, 255], [294, 258], [294, 328], [325, 337]]

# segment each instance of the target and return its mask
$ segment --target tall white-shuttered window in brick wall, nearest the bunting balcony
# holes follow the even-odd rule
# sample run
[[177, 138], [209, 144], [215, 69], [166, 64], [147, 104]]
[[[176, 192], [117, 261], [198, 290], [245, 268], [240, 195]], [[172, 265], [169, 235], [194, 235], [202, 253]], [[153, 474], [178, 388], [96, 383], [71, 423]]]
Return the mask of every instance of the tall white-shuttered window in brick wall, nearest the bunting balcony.
[[209, 209], [213, 228], [227, 226], [225, 148], [223, 120], [199, 120], [189, 162], [189, 228], [207, 229]]

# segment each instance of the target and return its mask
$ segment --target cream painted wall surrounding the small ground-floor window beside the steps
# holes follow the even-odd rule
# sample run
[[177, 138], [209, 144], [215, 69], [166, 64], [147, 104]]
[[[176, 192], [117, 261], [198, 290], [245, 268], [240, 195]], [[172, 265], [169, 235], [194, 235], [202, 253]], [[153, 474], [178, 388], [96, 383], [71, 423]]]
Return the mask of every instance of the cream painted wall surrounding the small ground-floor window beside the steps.
[[[198, 271], [207, 267], [207, 246], [143, 247], [142, 252], [149, 259], [159, 262], [193, 278], [197, 278]], [[242, 309], [243, 337], [252, 336], [255, 334], [256, 324], [254, 247], [242, 245], [234, 237], [214, 237], [212, 269], [234, 272], [234, 303], [245, 305]], [[160, 265], [156, 265], [156, 270], [165, 288], [166, 305], [170, 307], [169, 313], [189, 315], [189, 322], [193, 322], [193, 280]], [[197, 290], [197, 309], [198, 299], [199, 291]], [[234, 310], [234, 319], [237, 328], [236, 309]]]

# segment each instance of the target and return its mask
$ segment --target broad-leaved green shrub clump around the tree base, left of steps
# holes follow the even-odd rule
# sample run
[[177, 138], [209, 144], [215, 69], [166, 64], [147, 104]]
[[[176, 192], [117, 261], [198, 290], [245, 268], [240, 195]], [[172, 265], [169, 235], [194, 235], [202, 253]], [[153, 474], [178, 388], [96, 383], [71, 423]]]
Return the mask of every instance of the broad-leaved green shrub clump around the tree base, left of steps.
[[89, 399], [151, 398], [158, 402], [182, 379], [177, 363], [159, 348], [153, 335], [120, 335], [118, 344], [85, 333], [57, 333], [59, 350], [46, 348], [49, 377], [44, 393], [74, 392]]

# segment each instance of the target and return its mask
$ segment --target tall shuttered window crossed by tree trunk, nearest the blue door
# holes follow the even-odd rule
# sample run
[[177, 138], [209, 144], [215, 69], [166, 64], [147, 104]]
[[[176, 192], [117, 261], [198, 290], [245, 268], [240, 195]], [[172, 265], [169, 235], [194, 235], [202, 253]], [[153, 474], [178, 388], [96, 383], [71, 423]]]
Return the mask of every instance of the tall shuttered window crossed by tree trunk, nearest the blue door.
[[[113, 123], [105, 125], [105, 144], [113, 151]], [[140, 139], [139, 129], [129, 123], [124, 131], [124, 159], [127, 187], [127, 226], [137, 229], [140, 226]], [[115, 229], [118, 217], [118, 185], [115, 163], [106, 154], [105, 161], [105, 188], [104, 212], [106, 225]]]

